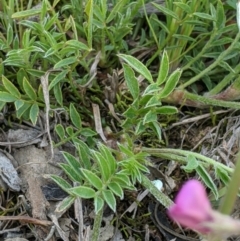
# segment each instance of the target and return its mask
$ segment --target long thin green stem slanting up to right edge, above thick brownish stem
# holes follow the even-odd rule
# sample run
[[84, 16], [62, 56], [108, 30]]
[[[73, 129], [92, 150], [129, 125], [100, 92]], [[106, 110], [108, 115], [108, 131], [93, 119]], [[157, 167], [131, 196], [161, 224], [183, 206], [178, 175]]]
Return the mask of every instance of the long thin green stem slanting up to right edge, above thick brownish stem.
[[182, 88], [182, 89], [186, 88], [187, 86], [189, 86], [189, 85], [193, 84], [194, 82], [198, 81], [201, 77], [206, 75], [213, 68], [215, 68], [232, 51], [233, 47], [235, 46], [236, 43], [238, 43], [239, 39], [240, 39], [240, 32], [237, 34], [236, 38], [234, 39], [232, 44], [228, 47], [228, 49], [225, 50], [224, 52], [222, 52], [211, 65], [209, 65], [206, 69], [204, 69], [198, 75], [194, 76], [189, 81], [187, 81], [186, 83], [181, 85], [180, 88]]

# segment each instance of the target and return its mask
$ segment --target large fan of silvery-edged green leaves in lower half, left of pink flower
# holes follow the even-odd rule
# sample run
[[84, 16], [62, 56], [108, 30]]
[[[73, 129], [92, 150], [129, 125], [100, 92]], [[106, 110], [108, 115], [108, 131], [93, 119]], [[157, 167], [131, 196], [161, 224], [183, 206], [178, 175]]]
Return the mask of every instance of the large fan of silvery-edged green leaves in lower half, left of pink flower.
[[98, 150], [90, 150], [93, 164], [89, 165], [90, 163], [84, 160], [85, 146], [81, 141], [76, 144], [80, 153], [79, 159], [63, 152], [67, 164], [60, 164], [69, 179], [77, 182], [79, 186], [72, 187], [58, 176], [53, 175], [52, 179], [73, 196], [93, 198], [96, 213], [103, 208], [104, 203], [115, 211], [116, 197], [122, 199], [124, 189], [134, 189], [136, 180], [141, 181], [141, 175], [148, 172], [145, 166], [147, 155], [142, 152], [133, 153], [131, 149], [119, 145], [124, 155], [117, 161], [111, 149], [99, 144]]

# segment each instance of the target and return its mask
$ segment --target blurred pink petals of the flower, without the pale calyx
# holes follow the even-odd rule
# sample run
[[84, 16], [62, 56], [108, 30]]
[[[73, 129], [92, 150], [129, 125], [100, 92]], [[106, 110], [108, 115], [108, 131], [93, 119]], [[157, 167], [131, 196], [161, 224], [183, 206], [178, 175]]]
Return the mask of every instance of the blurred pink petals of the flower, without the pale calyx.
[[208, 233], [209, 228], [201, 224], [213, 220], [212, 208], [206, 191], [197, 180], [186, 182], [178, 193], [175, 204], [168, 210], [169, 216], [181, 225], [200, 233]]

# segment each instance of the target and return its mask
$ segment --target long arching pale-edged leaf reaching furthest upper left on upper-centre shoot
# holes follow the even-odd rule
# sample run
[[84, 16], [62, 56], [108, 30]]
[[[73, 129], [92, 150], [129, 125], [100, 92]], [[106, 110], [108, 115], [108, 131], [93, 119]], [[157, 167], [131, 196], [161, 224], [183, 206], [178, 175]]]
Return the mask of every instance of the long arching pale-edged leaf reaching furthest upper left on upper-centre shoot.
[[150, 83], [153, 83], [150, 71], [138, 59], [126, 54], [118, 54], [118, 56], [123, 59], [127, 64], [129, 64], [136, 72], [146, 78]]

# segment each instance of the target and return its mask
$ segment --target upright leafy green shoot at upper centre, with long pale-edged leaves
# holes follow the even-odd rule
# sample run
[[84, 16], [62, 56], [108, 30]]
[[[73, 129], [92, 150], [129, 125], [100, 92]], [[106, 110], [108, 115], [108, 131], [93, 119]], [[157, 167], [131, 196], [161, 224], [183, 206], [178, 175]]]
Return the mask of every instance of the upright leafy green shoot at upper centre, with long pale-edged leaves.
[[[158, 122], [158, 115], [172, 115], [178, 112], [176, 107], [161, 106], [161, 100], [175, 90], [181, 76], [181, 71], [177, 69], [168, 76], [168, 55], [164, 52], [158, 78], [154, 82], [150, 71], [136, 58], [127, 55], [119, 55], [119, 57], [129, 64], [129, 66], [124, 64], [123, 70], [127, 86], [134, 98], [133, 104], [124, 112], [126, 120], [122, 126], [126, 129], [136, 126], [135, 135], [137, 136], [150, 128], [155, 132], [159, 140], [161, 140], [161, 126]], [[131, 67], [150, 82], [141, 94], [139, 93], [140, 88], [137, 78]], [[163, 84], [165, 85], [163, 86]]]

